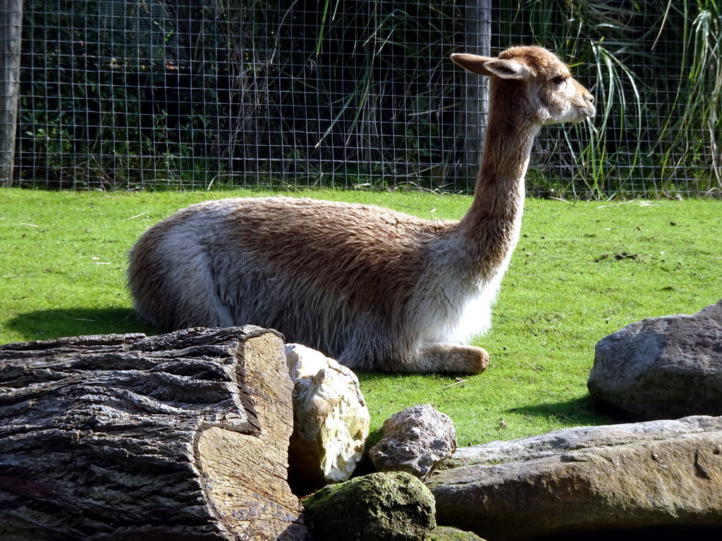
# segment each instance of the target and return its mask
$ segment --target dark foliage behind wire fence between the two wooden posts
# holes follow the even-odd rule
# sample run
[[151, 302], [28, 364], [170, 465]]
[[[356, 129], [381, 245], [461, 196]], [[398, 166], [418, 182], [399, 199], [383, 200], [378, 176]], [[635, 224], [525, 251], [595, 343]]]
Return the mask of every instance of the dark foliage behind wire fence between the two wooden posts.
[[453, 177], [460, 85], [448, 54], [463, 30], [453, 2], [28, 0], [25, 12], [22, 180]]

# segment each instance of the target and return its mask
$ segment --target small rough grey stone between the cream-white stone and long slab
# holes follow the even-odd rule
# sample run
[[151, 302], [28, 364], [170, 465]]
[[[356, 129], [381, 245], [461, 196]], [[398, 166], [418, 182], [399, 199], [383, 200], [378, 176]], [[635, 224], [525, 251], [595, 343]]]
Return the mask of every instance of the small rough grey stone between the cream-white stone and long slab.
[[406, 408], [383, 423], [383, 436], [369, 457], [378, 471], [429, 475], [456, 451], [456, 428], [430, 404]]

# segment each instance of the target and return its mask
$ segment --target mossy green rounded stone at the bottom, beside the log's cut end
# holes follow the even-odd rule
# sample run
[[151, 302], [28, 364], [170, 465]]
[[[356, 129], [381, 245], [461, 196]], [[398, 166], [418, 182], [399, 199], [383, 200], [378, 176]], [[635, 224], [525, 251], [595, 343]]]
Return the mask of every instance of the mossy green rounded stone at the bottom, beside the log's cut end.
[[436, 527], [433, 496], [406, 472], [375, 472], [328, 485], [303, 506], [314, 541], [419, 541]]

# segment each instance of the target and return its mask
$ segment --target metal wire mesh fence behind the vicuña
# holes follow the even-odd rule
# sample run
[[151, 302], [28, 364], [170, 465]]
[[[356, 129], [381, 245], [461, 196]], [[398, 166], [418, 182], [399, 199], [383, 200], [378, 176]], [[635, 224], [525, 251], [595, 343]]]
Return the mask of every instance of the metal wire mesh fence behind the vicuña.
[[469, 193], [482, 78], [554, 50], [595, 94], [544, 128], [530, 195], [716, 195], [722, 17], [696, 1], [25, 0], [15, 184]]

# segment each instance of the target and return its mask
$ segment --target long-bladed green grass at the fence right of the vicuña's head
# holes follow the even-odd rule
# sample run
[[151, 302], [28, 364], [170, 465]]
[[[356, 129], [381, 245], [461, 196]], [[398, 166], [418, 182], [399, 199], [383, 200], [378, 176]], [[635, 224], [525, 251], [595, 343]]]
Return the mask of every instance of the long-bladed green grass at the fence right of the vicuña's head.
[[557, 50], [596, 97], [591, 124], [552, 127], [539, 138], [532, 164], [539, 191], [721, 195], [720, 7], [708, 0], [528, 0], [523, 9], [495, 12], [492, 46], [532, 36]]

